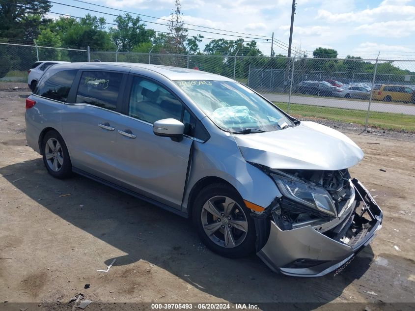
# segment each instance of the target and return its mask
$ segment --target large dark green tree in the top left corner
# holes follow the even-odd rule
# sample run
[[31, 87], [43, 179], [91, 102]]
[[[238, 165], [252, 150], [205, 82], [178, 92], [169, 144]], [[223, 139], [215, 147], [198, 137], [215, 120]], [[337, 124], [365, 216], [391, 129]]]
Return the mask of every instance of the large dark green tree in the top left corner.
[[42, 25], [50, 20], [44, 15], [49, 12], [48, 0], [7, 0], [0, 2], [0, 37], [35, 39]]

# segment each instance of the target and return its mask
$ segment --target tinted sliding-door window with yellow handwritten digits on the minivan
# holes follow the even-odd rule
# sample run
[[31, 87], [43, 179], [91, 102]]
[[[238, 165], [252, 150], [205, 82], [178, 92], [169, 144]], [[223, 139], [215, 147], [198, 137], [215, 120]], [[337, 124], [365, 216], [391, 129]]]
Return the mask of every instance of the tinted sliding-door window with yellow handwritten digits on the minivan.
[[79, 82], [76, 102], [116, 110], [122, 73], [84, 71]]

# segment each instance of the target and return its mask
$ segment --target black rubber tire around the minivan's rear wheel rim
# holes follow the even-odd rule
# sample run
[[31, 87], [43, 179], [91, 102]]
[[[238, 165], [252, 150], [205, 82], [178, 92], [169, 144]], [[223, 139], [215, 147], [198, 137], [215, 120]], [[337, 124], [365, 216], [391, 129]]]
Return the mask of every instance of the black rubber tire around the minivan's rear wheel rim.
[[[54, 157], [48, 160], [47, 156], [50, 156], [51, 154], [53, 154], [52, 152], [47, 152], [46, 144], [48, 143], [49, 140], [51, 140], [52, 143], [57, 141], [60, 145], [60, 148], [59, 147], [56, 148]], [[57, 144], [55, 144], [55, 147], [56, 146]], [[49, 145], [48, 145], [48, 148], [49, 148], [49, 151], [52, 151]], [[64, 179], [64, 178], [68, 178], [71, 176], [72, 163], [71, 163], [71, 159], [69, 158], [68, 148], [66, 147], [66, 144], [63, 138], [55, 130], [51, 130], [47, 132], [45, 136], [43, 137], [42, 155], [43, 155], [43, 164], [45, 165], [46, 169], [52, 176], [54, 176], [55, 178], [59, 178], [59, 179]], [[63, 159], [61, 164], [57, 159], [58, 156]], [[57, 170], [53, 169], [54, 168], [53, 164], [55, 164], [55, 161], [57, 165]], [[52, 163], [52, 167], [51, 167], [51, 163]]]

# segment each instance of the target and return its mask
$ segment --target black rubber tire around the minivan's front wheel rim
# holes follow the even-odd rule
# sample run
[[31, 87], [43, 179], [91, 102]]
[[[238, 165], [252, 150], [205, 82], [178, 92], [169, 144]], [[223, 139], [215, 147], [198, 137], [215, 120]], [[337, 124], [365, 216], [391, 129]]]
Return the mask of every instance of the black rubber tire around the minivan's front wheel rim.
[[[233, 209], [233, 211], [236, 211], [237, 212], [236, 215], [239, 215], [236, 217], [241, 217], [241, 215], [244, 214], [243, 216], [245, 216], [246, 218], [245, 219], [242, 218], [242, 219], [244, 221], [246, 220], [246, 223], [248, 224], [248, 229], [245, 231], [245, 233], [242, 232], [240, 229], [236, 229], [234, 227], [229, 228], [229, 230], [233, 230], [232, 232], [234, 232], [232, 234], [232, 239], [235, 236], [237, 236], [238, 233], [240, 234], [242, 232], [243, 234], [245, 234], [245, 237], [243, 239], [242, 237], [240, 237], [240, 240], [242, 239], [240, 244], [236, 245], [235, 247], [231, 247], [231, 248], [226, 248], [225, 246], [218, 245], [213, 240], [211, 240], [211, 238], [205, 232], [203, 228], [203, 224], [202, 224], [203, 213], [206, 213], [206, 211], [203, 212], [204, 204], [207, 203], [208, 200], [210, 200], [211, 198], [221, 197], [221, 196], [228, 197], [232, 199], [234, 202], [236, 202], [237, 205], [239, 205], [239, 206], [235, 205], [236, 207]], [[243, 213], [239, 211], [239, 207], [241, 208]], [[254, 252], [256, 232], [255, 232], [255, 225], [254, 225], [253, 219], [250, 216], [250, 210], [245, 206], [245, 203], [243, 199], [241, 198], [241, 196], [239, 195], [239, 193], [230, 185], [227, 185], [225, 183], [215, 183], [215, 184], [211, 184], [203, 188], [200, 191], [200, 193], [197, 195], [196, 199], [194, 200], [194, 206], [193, 206], [192, 213], [193, 213], [193, 223], [194, 223], [194, 226], [196, 227], [197, 233], [200, 239], [202, 240], [202, 242], [211, 251], [217, 254], [220, 254], [221, 256], [229, 257], [229, 258], [241, 258], [241, 257], [248, 256], [249, 254], [252, 254]], [[232, 215], [232, 217], [234, 216], [233, 214], [229, 214], [229, 215]], [[216, 220], [213, 220], [212, 223], [214, 223]], [[226, 223], [227, 222], [228, 221], [226, 220]], [[219, 221], [218, 224], [221, 225], [222, 223]], [[224, 229], [219, 229], [218, 231], [216, 231], [215, 234], [218, 234], [218, 235], [222, 234], [224, 236], [225, 229], [226, 227]], [[223, 233], [221, 233], [221, 230], [223, 231]], [[216, 235], [214, 236], [212, 234], [211, 236], [214, 239], [218, 239]]]

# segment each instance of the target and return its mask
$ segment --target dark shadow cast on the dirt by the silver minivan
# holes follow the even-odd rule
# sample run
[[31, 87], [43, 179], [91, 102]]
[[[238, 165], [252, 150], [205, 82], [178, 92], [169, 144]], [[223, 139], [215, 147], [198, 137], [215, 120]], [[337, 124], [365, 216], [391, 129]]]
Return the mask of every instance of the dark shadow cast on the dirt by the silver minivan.
[[[201, 291], [234, 303], [306, 302], [313, 303], [310, 309], [314, 309], [316, 304], [341, 297], [373, 258], [369, 246], [335, 277], [285, 277], [270, 271], [256, 255], [235, 260], [210, 252], [189, 220], [152, 204], [76, 174], [57, 180], [40, 158], [3, 167], [0, 173], [56, 216], [125, 252], [116, 257], [114, 266], [146, 260]], [[20, 176], [25, 178], [13, 182]], [[59, 197], [68, 192], [70, 196]], [[113, 259], [105, 258], [105, 264]], [[275, 310], [275, 305], [261, 308]]]

